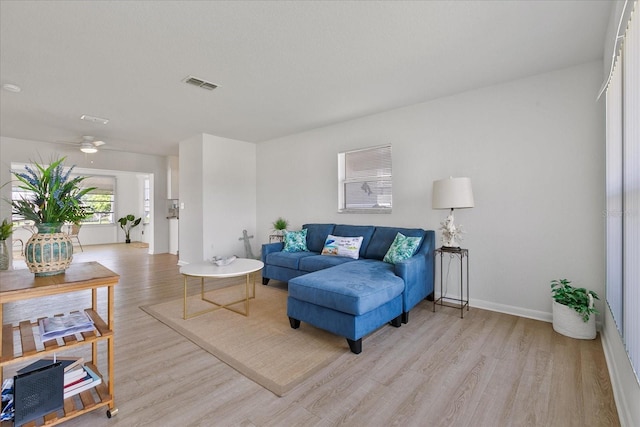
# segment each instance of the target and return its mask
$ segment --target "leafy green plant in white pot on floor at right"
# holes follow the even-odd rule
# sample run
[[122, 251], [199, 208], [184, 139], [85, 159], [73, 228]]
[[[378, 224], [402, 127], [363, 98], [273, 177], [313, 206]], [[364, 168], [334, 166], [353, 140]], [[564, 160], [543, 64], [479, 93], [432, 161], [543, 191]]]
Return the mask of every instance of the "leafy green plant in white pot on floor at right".
[[[594, 300], [598, 295], [585, 288], [571, 286], [567, 279], [551, 281], [553, 297], [553, 329], [571, 338], [596, 337]], [[592, 316], [593, 315], [593, 316]]]

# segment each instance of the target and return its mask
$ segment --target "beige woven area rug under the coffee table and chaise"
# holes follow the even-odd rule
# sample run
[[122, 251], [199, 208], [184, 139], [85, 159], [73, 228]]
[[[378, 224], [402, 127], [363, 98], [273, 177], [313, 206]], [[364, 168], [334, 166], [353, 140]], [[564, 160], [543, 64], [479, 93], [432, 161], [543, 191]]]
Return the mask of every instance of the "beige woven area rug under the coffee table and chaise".
[[[190, 291], [195, 292], [196, 284]], [[244, 286], [206, 293], [215, 301], [235, 301]], [[189, 313], [211, 307], [199, 299], [188, 299]], [[216, 310], [183, 320], [183, 300], [140, 307], [238, 372], [278, 396], [300, 384], [349, 352], [344, 338], [303, 323], [292, 329], [287, 317], [287, 291], [256, 284], [256, 298], [249, 303], [249, 316]], [[244, 303], [233, 305], [244, 311]]]

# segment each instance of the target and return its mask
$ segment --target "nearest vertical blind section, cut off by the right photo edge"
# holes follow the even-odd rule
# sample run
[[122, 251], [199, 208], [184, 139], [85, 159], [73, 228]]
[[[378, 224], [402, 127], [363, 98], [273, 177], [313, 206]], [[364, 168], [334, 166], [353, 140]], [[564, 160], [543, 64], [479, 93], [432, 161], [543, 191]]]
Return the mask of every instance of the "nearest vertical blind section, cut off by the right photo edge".
[[640, 372], [640, 25], [632, 13], [623, 45], [623, 337]]

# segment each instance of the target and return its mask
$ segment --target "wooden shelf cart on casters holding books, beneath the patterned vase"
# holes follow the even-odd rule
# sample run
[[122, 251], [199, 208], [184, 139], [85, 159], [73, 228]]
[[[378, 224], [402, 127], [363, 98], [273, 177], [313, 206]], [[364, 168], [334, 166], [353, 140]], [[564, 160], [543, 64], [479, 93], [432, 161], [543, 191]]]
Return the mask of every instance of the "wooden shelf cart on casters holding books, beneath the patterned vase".
[[[39, 424], [55, 425], [70, 418], [77, 417], [86, 412], [108, 406], [107, 417], [117, 413], [113, 397], [114, 377], [114, 353], [113, 353], [113, 287], [118, 283], [120, 276], [97, 262], [72, 263], [63, 274], [55, 276], [35, 277], [29, 270], [13, 270], [0, 273], [0, 383], [4, 378], [4, 367], [12, 363], [27, 362], [29, 360], [52, 355], [55, 352], [66, 351], [72, 348], [91, 344], [92, 360], [86, 364], [98, 373], [103, 379], [102, 383], [95, 387], [95, 396], [91, 390], [81, 392], [76, 398], [72, 396], [64, 401], [64, 416], [59, 417], [57, 412], [47, 414]], [[98, 288], [107, 287], [107, 319], [106, 322], [98, 315]], [[41, 346], [36, 346], [40, 341], [38, 322], [31, 320], [20, 321], [15, 324], [4, 324], [4, 305], [16, 301], [31, 298], [49, 297], [69, 292], [91, 290], [91, 308], [84, 311], [93, 319], [95, 330], [66, 336], [57, 340], [45, 341]], [[51, 316], [57, 313], [43, 313]], [[34, 333], [35, 331], [35, 333]], [[15, 340], [14, 337], [19, 338]], [[98, 342], [107, 341], [107, 375], [105, 378], [98, 372]], [[38, 342], [38, 344], [40, 344]], [[14, 347], [15, 345], [15, 347]], [[42, 349], [39, 349], [42, 348]], [[15, 350], [14, 350], [15, 349]], [[39, 425], [38, 424], [38, 425]], [[12, 422], [2, 422], [2, 427], [11, 426]], [[37, 425], [35, 421], [27, 425]]]

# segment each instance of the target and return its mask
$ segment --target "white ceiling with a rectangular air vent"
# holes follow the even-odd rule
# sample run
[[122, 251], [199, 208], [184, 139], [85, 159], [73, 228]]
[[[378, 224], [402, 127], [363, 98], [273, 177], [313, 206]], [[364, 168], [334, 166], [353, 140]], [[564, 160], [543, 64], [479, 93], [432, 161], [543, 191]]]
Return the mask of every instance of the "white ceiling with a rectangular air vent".
[[601, 59], [611, 6], [1, 0], [0, 80], [22, 91], [0, 91], [0, 134], [161, 155], [200, 133], [261, 142]]

